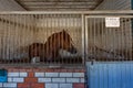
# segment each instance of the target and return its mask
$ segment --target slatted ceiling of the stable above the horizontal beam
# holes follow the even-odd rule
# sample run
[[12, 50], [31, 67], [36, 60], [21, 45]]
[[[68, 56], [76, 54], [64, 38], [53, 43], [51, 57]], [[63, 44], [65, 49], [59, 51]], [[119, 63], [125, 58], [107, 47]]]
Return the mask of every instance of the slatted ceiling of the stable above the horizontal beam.
[[94, 10], [103, 0], [14, 0], [28, 11]]

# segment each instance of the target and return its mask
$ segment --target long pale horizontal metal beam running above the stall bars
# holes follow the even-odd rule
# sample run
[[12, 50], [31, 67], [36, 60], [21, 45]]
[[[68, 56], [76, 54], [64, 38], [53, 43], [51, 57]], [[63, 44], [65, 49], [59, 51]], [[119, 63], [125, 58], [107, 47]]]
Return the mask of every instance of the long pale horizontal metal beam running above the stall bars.
[[1, 11], [0, 14], [133, 14], [132, 10], [104, 11]]

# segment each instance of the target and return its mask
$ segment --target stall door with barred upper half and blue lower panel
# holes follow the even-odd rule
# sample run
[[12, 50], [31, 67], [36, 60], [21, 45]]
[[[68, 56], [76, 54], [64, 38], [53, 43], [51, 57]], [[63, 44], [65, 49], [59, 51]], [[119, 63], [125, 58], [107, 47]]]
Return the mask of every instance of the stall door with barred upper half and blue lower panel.
[[88, 88], [132, 88], [132, 16], [85, 16]]

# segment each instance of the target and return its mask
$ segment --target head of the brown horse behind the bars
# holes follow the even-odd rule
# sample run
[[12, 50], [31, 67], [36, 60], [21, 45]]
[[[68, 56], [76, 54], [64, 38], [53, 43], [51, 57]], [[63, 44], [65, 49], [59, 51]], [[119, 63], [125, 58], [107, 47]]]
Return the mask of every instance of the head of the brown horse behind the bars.
[[71, 36], [64, 30], [60, 33], [60, 47], [62, 50], [68, 51], [71, 54], [76, 53], [76, 48], [74, 47]]

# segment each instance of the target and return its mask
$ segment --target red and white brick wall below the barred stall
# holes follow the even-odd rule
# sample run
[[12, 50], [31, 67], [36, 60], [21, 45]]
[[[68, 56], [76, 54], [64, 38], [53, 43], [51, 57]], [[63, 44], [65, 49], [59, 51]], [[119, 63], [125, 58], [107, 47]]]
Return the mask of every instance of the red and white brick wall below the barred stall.
[[84, 69], [7, 68], [0, 88], [85, 88]]

